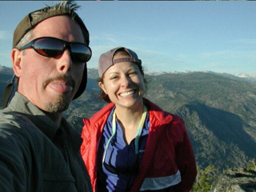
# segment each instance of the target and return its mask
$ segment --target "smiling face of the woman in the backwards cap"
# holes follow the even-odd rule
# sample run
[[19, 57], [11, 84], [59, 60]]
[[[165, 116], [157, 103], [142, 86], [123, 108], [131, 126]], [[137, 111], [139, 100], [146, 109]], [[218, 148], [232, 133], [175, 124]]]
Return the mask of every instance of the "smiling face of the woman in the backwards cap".
[[[116, 55], [114, 59], [122, 57], [127, 56]], [[103, 81], [98, 84], [117, 107], [133, 108], [142, 104], [145, 84], [138, 65], [133, 62], [114, 64], [106, 70]]]

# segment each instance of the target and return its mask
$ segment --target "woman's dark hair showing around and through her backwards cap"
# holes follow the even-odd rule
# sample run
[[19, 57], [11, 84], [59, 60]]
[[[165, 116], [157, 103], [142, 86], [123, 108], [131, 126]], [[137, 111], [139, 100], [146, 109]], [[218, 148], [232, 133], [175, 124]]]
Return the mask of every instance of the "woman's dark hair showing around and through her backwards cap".
[[[127, 53], [125, 49], [119, 49], [116, 53], [114, 53], [114, 56], [115, 55], [122, 55], [122, 56], [130, 57], [130, 54]], [[141, 72], [141, 74], [142, 74], [143, 82], [144, 82], [145, 87], [146, 87], [147, 82], [146, 82], [146, 79], [145, 79], [145, 76], [144, 76], [144, 69], [142, 67], [142, 64], [137, 64], [136, 63], [136, 65], [138, 66], [139, 72]], [[104, 77], [104, 75], [105, 74], [103, 74], [102, 77], [98, 77], [98, 79], [97, 79], [98, 83], [102, 82], [102, 84], [103, 84], [103, 77]], [[102, 90], [102, 88], [100, 90], [100, 95], [98, 96], [98, 98], [106, 101], [106, 103], [111, 103], [110, 97]]]

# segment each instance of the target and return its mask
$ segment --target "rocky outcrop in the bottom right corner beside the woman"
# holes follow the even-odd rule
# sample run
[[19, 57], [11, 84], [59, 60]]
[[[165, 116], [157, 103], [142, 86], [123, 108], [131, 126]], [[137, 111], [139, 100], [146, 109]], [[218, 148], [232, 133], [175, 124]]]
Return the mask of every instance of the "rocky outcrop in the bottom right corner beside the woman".
[[256, 192], [256, 171], [243, 168], [226, 170], [219, 176], [211, 192]]

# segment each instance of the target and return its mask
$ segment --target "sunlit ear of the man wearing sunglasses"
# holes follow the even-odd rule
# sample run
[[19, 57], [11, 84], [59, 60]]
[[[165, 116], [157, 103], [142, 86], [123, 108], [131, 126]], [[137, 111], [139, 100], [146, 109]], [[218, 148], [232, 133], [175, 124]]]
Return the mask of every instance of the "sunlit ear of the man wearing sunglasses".
[[10, 53], [11, 61], [13, 62], [13, 69], [16, 76], [22, 76], [22, 51], [12, 49]]

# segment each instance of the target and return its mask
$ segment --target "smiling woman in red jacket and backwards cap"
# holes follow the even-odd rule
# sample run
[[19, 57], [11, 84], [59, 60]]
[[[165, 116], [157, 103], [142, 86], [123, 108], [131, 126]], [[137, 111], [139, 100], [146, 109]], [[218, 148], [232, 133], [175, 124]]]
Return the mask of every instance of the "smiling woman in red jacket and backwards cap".
[[106, 107], [84, 120], [82, 157], [94, 191], [190, 191], [197, 170], [184, 122], [146, 100], [142, 61], [118, 47], [98, 62]]

